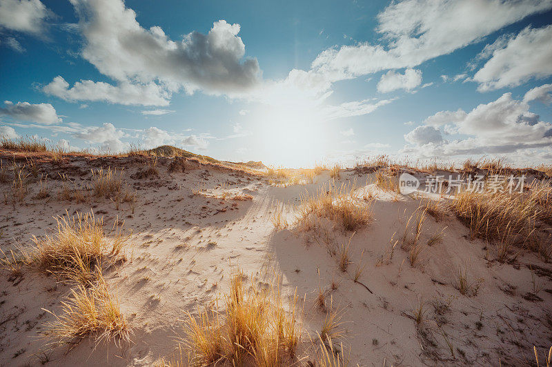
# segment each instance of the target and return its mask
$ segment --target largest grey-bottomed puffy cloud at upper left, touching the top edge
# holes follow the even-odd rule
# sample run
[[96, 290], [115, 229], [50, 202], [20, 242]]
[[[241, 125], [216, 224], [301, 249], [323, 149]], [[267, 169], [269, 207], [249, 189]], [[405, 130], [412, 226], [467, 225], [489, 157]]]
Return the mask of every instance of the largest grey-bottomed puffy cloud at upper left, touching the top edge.
[[85, 39], [84, 59], [118, 81], [161, 81], [188, 92], [247, 90], [257, 83], [256, 59], [243, 59], [239, 24], [213, 23], [208, 34], [191, 32], [172, 41], [158, 26], [145, 29], [121, 0], [71, 0]]

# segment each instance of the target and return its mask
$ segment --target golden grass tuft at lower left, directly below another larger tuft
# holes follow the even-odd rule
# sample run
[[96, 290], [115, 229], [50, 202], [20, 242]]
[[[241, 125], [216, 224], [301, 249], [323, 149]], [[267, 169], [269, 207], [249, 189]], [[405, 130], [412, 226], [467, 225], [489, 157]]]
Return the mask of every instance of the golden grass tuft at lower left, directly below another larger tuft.
[[130, 340], [130, 327], [121, 313], [119, 301], [109, 292], [106, 280], [98, 271], [98, 279], [86, 286], [72, 289], [66, 301], [61, 302], [61, 314], [46, 324], [46, 337], [58, 343], [77, 344], [85, 337], [94, 337], [95, 343]]

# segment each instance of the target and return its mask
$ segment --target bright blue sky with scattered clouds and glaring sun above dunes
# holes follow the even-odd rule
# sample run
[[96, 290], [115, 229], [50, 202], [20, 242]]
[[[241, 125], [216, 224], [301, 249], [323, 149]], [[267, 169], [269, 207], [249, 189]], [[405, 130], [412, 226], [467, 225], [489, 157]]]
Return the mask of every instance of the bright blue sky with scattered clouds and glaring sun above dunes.
[[552, 163], [552, 0], [0, 0], [0, 135]]

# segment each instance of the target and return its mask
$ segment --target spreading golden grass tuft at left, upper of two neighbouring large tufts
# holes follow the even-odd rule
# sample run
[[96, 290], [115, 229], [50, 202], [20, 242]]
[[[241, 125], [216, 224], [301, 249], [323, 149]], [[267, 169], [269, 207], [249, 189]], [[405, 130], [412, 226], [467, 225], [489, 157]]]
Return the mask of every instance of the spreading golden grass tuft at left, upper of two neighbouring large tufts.
[[[117, 221], [109, 233], [103, 230], [103, 217], [93, 213], [76, 217], [57, 217], [57, 230], [44, 237], [32, 236], [30, 248], [19, 248], [17, 255], [4, 257], [4, 268], [24, 264], [64, 280], [88, 284], [97, 277], [102, 264], [122, 261], [128, 237]], [[110, 237], [108, 237], [110, 235]], [[15, 261], [17, 259], [17, 261]]]

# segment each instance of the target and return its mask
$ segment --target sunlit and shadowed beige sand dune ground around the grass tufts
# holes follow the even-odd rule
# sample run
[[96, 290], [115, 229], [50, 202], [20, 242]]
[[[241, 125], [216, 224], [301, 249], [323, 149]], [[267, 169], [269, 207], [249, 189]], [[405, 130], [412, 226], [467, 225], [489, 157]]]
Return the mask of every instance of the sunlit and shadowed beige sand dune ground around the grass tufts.
[[[47, 326], [55, 321], [52, 313], [61, 315], [62, 301], [75, 285], [32, 266], [23, 266], [21, 273], [4, 266], [1, 365], [174, 361], [179, 342], [187, 338], [186, 312], [197, 315], [215, 301], [224, 308], [238, 270], [246, 287], [254, 281], [262, 288], [279, 277], [288, 311], [297, 295], [294, 317], [301, 335], [295, 357], [286, 364], [317, 364], [317, 333], [328, 315], [339, 318], [336, 353], [353, 366], [525, 365], [535, 361], [533, 346], [542, 361], [552, 344], [548, 261], [519, 247], [511, 249], [507, 261], [497, 261], [492, 241], [472, 238], [453, 212], [424, 211], [426, 195], [384, 190], [376, 183], [377, 170], [341, 169], [335, 177], [321, 169], [311, 183], [299, 171], [293, 182], [266, 170], [190, 157], [176, 168], [170, 157], [63, 155], [52, 160], [4, 151], [0, 158], [6, 175], [0, 184], [0, 248], [6, 254], [30, 246], [32, 235], [55, 230], [55, 217], [77, 212], [103, 217], [108, 237], [115, 222], [130, 235], [126, 261], [104, 269], [103, 277], [131, 328], [130, 341], [96, 344], [90, 335], [76, 344], [57, 344]], [[21, 200], [12, 190], [14, 161], [24, 164], [28, 175]], [[100, 168], [121, 179], [123, 193], [94, 196], [92, 182]], [[545, 178], [542, 172], [533, 172], [534, 177]], [[366, 210], [366, 223], [347, 230], [313, 213], [304, 217], [308, 223], [297, 221], [308, 195], [339, 190]], [[433, 197], [443, 207], [449, 202]], [[278, 216], [287, 226], [275, 228]], [[538, 231], [550, 248], [549, 226], [542, 224]], [[414, 260], [413, 251], [419, 252]], [[184, 353], [188, 346], [181, 347]]]

